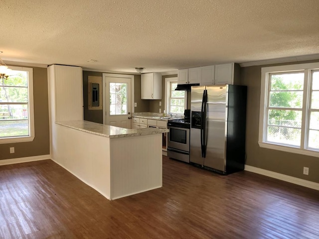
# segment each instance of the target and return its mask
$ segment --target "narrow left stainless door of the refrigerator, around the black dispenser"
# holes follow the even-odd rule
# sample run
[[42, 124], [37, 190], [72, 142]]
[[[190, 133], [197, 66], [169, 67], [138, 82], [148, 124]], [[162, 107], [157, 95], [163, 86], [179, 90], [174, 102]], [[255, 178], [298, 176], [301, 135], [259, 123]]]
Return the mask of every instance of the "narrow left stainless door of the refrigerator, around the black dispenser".
[[[190, 115], [191, 112], [200, 112], [201, 104], [203, 99], [203, 92], [205, 86], [192, 86], [191, 87], [191, 106], [190, 106]], [[192, 120], [192, 119], [190, 119]], [[192, 122], [190, 122], [192, 125]], [[190, 127], [190, 162], [197, 163], [200, 165], [204, 164], [204, 158], [201, 156], [201, 145], [200, 145], [200, 129]]]

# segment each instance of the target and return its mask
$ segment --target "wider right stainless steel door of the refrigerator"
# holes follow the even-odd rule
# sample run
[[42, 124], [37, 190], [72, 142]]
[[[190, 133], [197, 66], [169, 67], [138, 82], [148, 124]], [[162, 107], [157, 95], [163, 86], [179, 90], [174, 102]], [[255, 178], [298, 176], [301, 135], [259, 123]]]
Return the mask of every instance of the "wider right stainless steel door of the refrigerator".
[[226, 170], [227, 85], [206, 86], [207, 150], [204, 166]]

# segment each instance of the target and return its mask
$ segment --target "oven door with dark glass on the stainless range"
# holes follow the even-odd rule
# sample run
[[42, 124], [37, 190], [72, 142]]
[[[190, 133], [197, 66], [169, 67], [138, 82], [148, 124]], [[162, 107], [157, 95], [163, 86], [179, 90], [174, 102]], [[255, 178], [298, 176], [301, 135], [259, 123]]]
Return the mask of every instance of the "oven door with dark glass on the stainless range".
[[189, 152], [189, 128], [168, 126], [167, 146]]

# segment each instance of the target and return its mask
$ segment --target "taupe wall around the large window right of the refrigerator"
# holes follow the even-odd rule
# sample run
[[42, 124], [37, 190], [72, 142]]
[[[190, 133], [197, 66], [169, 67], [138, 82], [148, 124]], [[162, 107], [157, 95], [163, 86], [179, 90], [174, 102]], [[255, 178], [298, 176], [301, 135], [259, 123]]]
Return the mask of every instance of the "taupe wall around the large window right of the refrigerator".
[[[295, 62], [276, 65], [292, 65], [301, 63], [307, 62]], [[246, 121], [246, 164], [319, 183], [318, 157], [311, 157], [302, 154], [295, 154], [259, 147], [258, 130], [261, 68], [268, 66], [274, 65], [241, 68], [241, 84], [248, 87]], [[309, 167], [309, 176], [303, 174], [304, 166]]]

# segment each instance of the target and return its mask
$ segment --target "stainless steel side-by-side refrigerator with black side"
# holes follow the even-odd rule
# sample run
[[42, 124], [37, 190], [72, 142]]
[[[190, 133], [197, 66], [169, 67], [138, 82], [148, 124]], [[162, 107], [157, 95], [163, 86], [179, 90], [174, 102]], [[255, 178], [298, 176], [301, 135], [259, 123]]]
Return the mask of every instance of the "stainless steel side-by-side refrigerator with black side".
[[244, 169], [247, 87], [191, 87], [190, 162], [222, 174]]

